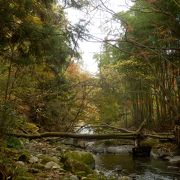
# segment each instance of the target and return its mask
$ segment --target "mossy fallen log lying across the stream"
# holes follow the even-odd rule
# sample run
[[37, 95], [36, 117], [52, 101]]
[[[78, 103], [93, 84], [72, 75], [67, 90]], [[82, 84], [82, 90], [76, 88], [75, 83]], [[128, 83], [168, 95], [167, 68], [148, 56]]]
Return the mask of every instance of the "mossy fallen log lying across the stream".
[[140, 127], [136, 131], [129, 131], [122, 129], [121, 133], [112, 134], [77, 134], [77, 133], [67, 133], [67, 132], [44, 132], [38, 134], [25, 134], [25, 133], [9, 133], [9, 136], [14, 136], [18, 138], [27, 139], [40, 139], [40, 138], [50, 138], [50, 137], [60, 137], [60, 138], [75, 138], [82, 140], [105, 140], [105, 139], [129, 139], [139, 142], [145, 138], [162, 139], [168, 141], [175, 141], [175, 136], [173, 133], [161, 133], [161, 134], [146, 134], [143, 133], [143, 128], [146, 125], [146, 120], [142, 122]]

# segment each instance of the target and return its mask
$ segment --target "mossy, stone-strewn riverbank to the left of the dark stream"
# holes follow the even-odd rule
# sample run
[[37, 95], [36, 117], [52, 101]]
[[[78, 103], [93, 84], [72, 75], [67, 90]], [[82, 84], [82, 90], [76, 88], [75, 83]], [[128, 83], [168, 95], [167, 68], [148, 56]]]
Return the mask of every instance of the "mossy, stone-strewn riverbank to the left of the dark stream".
[[91, 153], [64, 145], [57, 138], [32, 141], [9, 139], [6, 144], [1, 143], [0, 154], [1, 179], [106, 179], [95, 170]]

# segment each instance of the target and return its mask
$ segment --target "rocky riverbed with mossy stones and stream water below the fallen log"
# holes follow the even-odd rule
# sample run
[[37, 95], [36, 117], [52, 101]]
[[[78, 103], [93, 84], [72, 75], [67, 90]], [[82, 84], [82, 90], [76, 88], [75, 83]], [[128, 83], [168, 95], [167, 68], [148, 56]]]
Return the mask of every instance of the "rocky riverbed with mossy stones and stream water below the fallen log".
[[[180, 177], [180, 156], [170, 144], [158, 144], [151, 159], [134, 160], [131, 144], [107, 141], [74, 144], [71, 139], [59, 138], [31, 141], [15, 138], [8, 142], [1, 148], [0, 172], [13, 179], [130, 180], [154, 176], [163, 179], [166, 175], [159, 174], [166, 170], [170, 172], [166, 180]], [[170, 146], [172, 149], [167, 151]]]

